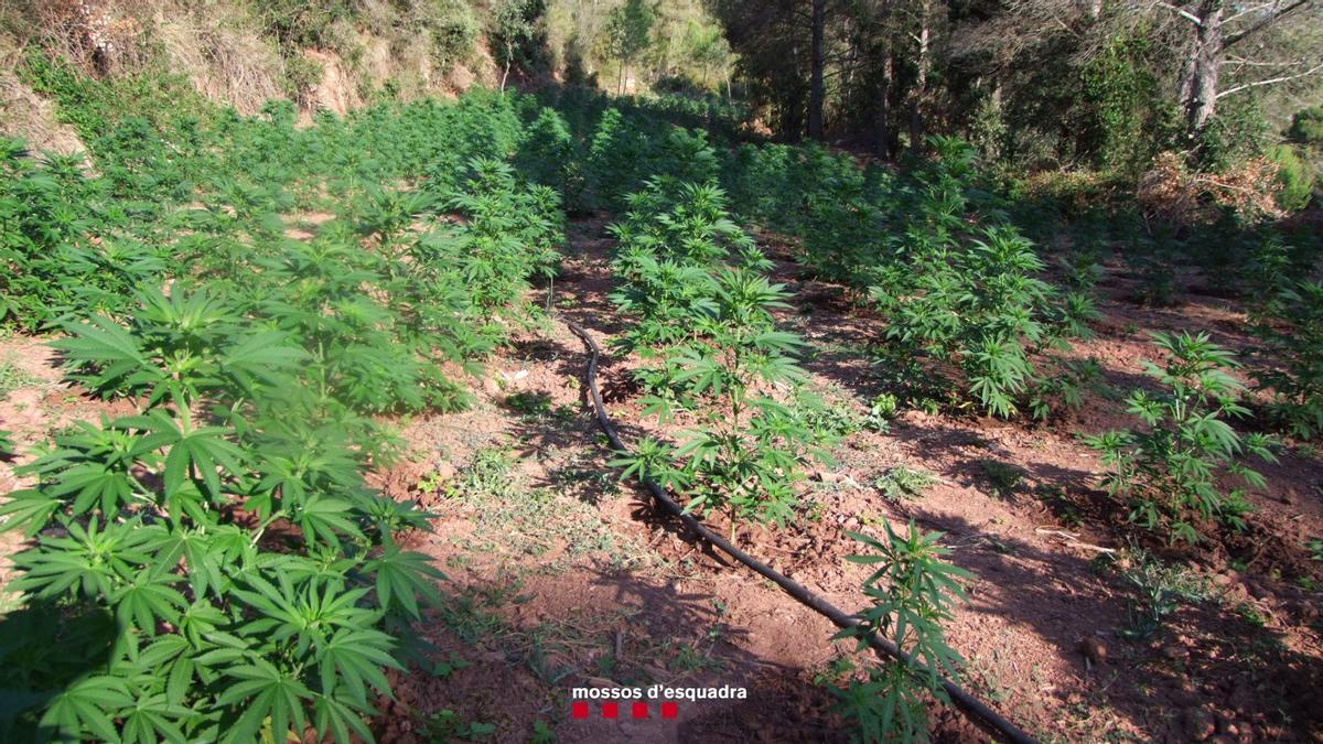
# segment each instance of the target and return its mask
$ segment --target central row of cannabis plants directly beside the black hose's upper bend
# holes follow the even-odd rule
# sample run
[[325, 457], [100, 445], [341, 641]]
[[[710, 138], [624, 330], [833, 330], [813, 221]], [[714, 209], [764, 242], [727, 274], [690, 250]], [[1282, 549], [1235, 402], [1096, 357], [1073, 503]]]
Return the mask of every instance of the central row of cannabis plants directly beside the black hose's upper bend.
[[647, 440], [617, 465], [683, 487], [687, 510], [725, 514], [732, 535], [742, 519], [783, 523], [815, 451], [808, 421], [774, 395], [803, 377], [802, 342], [773, 316], [789, 307], [785, 289], [758, 271], [765, 258], [730, 222], [720, 189], [656, 180], [631, 204], [615, 228], [624, 287], [614, 299], [638, 322], [626, 334], [632, 348], [665, 349], [640, 373], [646, 410], [688, 412], [703, 426], [680, 446]]

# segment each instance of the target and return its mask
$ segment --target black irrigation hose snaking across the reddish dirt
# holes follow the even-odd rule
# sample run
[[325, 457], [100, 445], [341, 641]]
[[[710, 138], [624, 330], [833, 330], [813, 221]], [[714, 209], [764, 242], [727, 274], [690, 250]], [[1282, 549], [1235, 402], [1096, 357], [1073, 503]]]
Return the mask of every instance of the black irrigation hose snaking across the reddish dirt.
[[[593, 409], [597, 412], [597, 421], [598, 424], [602, 425], [602, 430], [606, 433], [606, 438], [611, 441], [611, 446], [619, 451], [626, 451], [624, 443], [620, 441], [620, 436], [615, 430], [615, 424], [611, 421], [610, 414], [607, 414], [606, 412], [606, 404], [602, 402], [602, 393], [597, 387], [597, 363], [598, 359], [602, 356], [602, 349], [601, 347], [597, 346], [597, 342], [593, 340], [593, 336], [590, 336], [589, 332], [583, 330], [582, 326], [566, 318], [561, 319], [565, 322], [569, 330], [574, 332], [576, 336], [583, 340], [583, 343], [589, 348], [589, 361], [586, 373], [587, 393], [589, 398], [593, 402]], [[708, 543], [712, 543], [713, 545], [721, 548], [725, 553], [730, 555], [730, 557], [745, 564], [763, 579], [767, 579], [769, 581], [781, 586], [787, 594], [798, 600], [800, 604], [816, 612], [818, 614], [826, 617], [827, 620], [832, 621], [832, 624], [836, 628], [844, 630], [847, 628], [855, 628], [859, 625], [859, 620], [856, 620], [855, 617], [845, 614], [827, 600], [810, 592], [802, 584], [791, 581], [778, 571], [770, 568], [767, 564], [741, 551], [736, 545], [732, 545], [730, 541], [722, 537], [721, 535], [717, 535], [712, 530], [704, 527], [701, 522], [695, 519], [692, 515], [685, 514], [684, 508], [681, 508], [680, 504], [671, 498], [671, 495], [665, 491], [665, 488], [663, 488], [655, 481], [643, 479], [643, 485], [647, 486], [648, 491], [652, 492], [652, 498], [656, 499], [656, 502], [662, 504], [662, 507], [665, 508], [665, 511], [671, 512], [672, 516], [683, 522], [684, 526], [688, 527], [692, 532], [695, 532]], [[889, 657], [901, 659], [906, 663], [914, 663], [916, 666], [919, 666], [917, 665], [917, 662], [913, 662], [909, 654], [896, 647], [896, 643], [888, 641], [886, 638], [882, 638], [881, 635], [877, 634], [872, 634], [869, 635], [868, 639], [869, 643], [873, 646], [873, 650], [877, 651], [878, 654], [886, 654]], [[970, 716], [970, 719], [974, 723], [979, 724], [990, 733], [995, 735], [1002, 740], [1013, 741], [1015, 744], [1037, 744], [1032, 736], [1029, 736], [1028, 733], [1021, 731], [1020, 727], [1015, 725], [1013, 723], [1003, 718], [1000, 714], [994, 711], [983, 700], [979, 700], [974, 695], [970, 695], [960, 686], [955, 684], [950, 679], [946, 679], [945, 676], [941, 676], [941, 680], [942, 680], [942, 687], [946, 690], [946, 694], [951, 698], [951, 702], [955, 703], [958, 708], [964, 711], [964, 714]]]

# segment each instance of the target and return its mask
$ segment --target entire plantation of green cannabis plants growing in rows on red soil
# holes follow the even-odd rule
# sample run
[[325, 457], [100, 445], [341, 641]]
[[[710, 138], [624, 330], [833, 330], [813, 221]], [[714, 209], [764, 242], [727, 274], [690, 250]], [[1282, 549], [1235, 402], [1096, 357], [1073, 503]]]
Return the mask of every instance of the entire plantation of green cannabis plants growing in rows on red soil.
[[[0, 319], [53, 335], [67, 377], [132, 414], [56, 432], [0, 506], [33, 540], [0, 642], [0, 687], [22, 691], [7, 739], [370, 740], [445, 582], [398, 541], [431, 515], [365, 474], [404, 450], [390, 416], [466, 406], [483, 360], [545, 322], [568, 216], [610, 216], [618, 349], [643, 359], [647, 414], [685, 424], [610, 465], [732, 532], [800, 519], [794, 486], [843, 434], [804, 385], [753, 226], [878, 318], [859, 339], [890, 385], [873, 426], [901, 408], [1052, 420], [1099, 384], [1069, 353], [1098, 315], [1099, 256], [1048, 266], [1031, 236], [1052, 209], [1012, 200], [959, 140], [893, 172], [573, 90], [310, 127], [280, 103], [164, 124], [78, 111], [90, 163], [3, 143]], [[1253, 459], [1323, 433], [1323, 286], [1297, 279], [1301, 246], [1238, 234], [1221, 259], [1256, 298], [1259, 391], [1207, 336], [1156, 336], [1132, 426], [1090, 440], [1119, 514], [1174, 541], [1242, 527]], [[1130, 237], [1147, 241], [1136, 261], [1199, 240]], [[868, 670], [843, 710], [868, 740], [923, 737], [960, 663], [942, 624], [964, 575], [913, 526], [857, 537], [878, 571], [852, 635], [922, 666]]]

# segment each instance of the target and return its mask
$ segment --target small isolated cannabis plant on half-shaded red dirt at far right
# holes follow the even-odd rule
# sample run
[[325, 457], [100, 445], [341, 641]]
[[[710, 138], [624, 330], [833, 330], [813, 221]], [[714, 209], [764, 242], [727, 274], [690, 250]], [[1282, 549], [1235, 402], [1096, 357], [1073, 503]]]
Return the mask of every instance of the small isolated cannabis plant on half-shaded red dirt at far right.
[[[1154, 342], [1166, 361], [1144, 367], [1163, 392], [1140, 389], [1126, 398], [1146, 429], [1085, 438], [1111, 470], [1107, 490], [1130, 504], [1131, 520], [1172, 540], [1199, 541], [1208, 520], [1244, 528], [1250, 511], [1245, 488], [1265, 486], [1244, 457], [1269, 462], [1275, 457], [1266, 436], [1242, 437], [1226, 421], [1248, 414], [1238, 402], [1245, 387], [1230, 375], [1238, 363], [1207, 334], [1154, 334]], [[1221, 483], [1232, 478], [1241, 486], [1224, 488]]]

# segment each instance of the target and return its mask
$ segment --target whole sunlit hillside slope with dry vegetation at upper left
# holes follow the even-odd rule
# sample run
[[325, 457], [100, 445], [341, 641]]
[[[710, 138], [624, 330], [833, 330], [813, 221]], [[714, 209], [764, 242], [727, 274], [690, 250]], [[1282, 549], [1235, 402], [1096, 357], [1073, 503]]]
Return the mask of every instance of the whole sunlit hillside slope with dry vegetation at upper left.
[[310, 115], [380, 97], [454, 97], [499, 79], [480, 13], [458, 0], [17, 0], [0, 8], [0, 132], [38, 150], [82, 148], [34, 74], [41, 62], [128, 83], [183, 81], [241, 114], [271, 99]]

